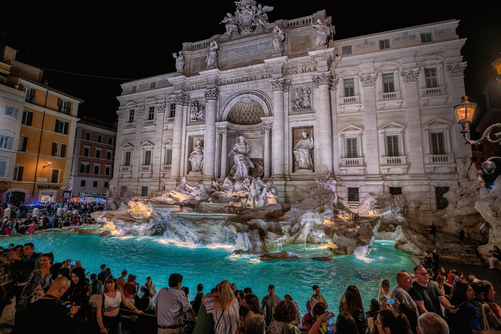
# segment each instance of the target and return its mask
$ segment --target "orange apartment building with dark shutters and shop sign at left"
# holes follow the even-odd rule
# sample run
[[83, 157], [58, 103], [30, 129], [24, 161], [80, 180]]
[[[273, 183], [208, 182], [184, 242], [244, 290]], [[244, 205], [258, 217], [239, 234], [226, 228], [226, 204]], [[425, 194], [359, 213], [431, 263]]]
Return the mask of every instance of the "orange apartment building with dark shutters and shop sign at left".
[[[2, 63], [10, 65], [4, 81], [26, 93], [15, 173], [4, 195], [12, 201], [67, 201], [78, 106], [83, 100], [42, 83], [43, 70], [16, 61], [17, 51], [4, 47]], [[21, 173], [20, 173], [21, 171]]]

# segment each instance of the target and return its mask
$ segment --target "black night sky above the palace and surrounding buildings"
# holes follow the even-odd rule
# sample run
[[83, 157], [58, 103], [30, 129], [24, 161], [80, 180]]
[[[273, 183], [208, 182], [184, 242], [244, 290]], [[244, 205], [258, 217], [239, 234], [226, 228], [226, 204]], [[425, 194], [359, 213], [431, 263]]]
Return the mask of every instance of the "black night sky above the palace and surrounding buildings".
[[[461, 51], [468, 62], [466, 95], [479, 105], [475, 117], [478, 121], [485, 111], [481, 92], [495, 77], [490, 63], [501, 57], [499, 6], [480, 5], [487, 2], [470, 2], [466, 6], [458, 2], [367, 3], [262, 1], [263, 6], [275, 7], [268, 14], [270, 22], [325, 9], [336, 27], [335, 40], [461, 20], [457, 34], [468, 39]], [[0, 43], [18, 50], [17, 60], [40, 68], [121, 78], [44, 73], [43, 80], [47, 79], [50, 87], [85, 101], [79, 107], [79, 116], [112, 122], [121, 83], [174, 72], [171, 54], [178, 52], [183, 42], [223, 34], [224, 25], [219, 22], [234, 10], [232, 1], [10, 1], [2, 4]]]

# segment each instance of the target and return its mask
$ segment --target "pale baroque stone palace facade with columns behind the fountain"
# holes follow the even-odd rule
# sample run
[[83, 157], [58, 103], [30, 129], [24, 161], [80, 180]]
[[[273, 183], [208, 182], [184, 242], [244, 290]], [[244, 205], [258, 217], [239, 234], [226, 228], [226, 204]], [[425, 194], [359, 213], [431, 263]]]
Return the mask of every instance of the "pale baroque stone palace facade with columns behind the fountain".
[[[456, 160], [471, 157], [452, 108], [464, 95], [458, 21], [335, 40], [325, 11], [268, 23], [261, 5], [245, 4], [251, 21], [227, 14], [226, 34], [183, 44], [172, 73], [122, 84], [111, 186], [148, 194], [185, 175], [222, 182], [243, 136], [279, 202], [306, 198], [331, 173], [354, 211], [388, 193], [418, 194], [422, 217], [442, 208], [465, 177]], [[197, 141], [203, 169], [188, 174]]]

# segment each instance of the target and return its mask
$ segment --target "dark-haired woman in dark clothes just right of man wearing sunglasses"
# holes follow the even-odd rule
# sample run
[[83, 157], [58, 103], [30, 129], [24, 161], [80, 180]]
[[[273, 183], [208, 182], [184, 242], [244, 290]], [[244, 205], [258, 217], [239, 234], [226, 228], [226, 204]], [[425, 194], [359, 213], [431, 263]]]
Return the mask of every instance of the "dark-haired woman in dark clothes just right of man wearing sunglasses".
[[475, 291], [465, 280], [454, 283], [450, 295], [452, 305], [460, 305], [456, 313], [447, 312], [446, 318], [449, 328], [454, 334], [481, 334], [478, 312], [469, 299], [475, 296]]

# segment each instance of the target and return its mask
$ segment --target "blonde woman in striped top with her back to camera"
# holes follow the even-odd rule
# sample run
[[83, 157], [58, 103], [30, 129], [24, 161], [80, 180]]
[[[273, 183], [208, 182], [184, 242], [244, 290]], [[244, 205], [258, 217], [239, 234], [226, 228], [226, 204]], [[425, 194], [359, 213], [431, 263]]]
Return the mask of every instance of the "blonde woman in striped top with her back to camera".
[[202, 303], [214, 318], [214, 334], [233, 334], [240, 326], [238, 302], [227, 280], [219, 283], [217, 292], [203, 296]]

